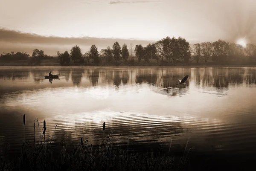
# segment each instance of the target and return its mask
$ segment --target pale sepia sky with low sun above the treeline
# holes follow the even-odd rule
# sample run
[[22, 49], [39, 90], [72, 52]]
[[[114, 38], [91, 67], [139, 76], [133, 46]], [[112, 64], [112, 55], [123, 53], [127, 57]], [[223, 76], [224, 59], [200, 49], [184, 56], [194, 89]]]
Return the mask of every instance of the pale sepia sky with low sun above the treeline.
[[0, 0], [0, 4], [0, 53], [31, 53], [38, 48], [56, 55], [76, 44], [84, 53], [93, 43], [98, 49], [116, 40], [145, 46], [166, 36], [181, 36], [190, 44], [241, 38], [256, 44], [255, 0]]

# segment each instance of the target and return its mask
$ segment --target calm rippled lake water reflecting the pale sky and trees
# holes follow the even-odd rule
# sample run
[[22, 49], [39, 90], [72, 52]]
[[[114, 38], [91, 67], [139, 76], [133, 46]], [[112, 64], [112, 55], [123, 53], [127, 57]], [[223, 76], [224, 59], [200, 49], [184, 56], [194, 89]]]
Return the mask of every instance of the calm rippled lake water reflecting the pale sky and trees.
[[[44, 79], [49, 71], [59, 79]], [[186, 86], [177, 78], [189, 75]], [[33, 124], [55, 146], [80, 137], [98, 145], [113, 130], [120, 145], [255, 153], [256, 68], [0, 67], [0, 146], [20, 152]], [[39, 129], [39, 128], [37, 128]]]

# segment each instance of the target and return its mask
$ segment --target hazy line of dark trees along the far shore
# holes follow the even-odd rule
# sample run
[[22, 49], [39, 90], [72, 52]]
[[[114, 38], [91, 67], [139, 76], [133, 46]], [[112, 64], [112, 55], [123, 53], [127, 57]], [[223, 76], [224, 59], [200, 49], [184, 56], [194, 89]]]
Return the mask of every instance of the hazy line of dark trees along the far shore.
[[11, 52], [0, 55], [0, 66], [255, 66], [256, 45], [242, 46], [219, 39], [196, 43], [193, 48], [185, 38], [166, 37], [147, 46], [122, 47], [116, 41], [100, 52], [91, 45], [88, 52], [73, 46], [70, 52], [46, 55], [44, 50]]

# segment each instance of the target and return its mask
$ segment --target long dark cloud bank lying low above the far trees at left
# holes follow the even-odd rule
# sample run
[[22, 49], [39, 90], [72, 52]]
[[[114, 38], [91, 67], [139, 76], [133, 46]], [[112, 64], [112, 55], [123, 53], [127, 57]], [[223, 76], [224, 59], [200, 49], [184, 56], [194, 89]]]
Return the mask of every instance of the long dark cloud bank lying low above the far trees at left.
[[133, 39], [120, 39], [120, 38], [93, 38], [93, 37], [80, 37], [80, 38], [64, 38], [55, 36], [41, 36], [31, 33], [23, 33], [14, 30], [0, 29], [0, 54], [3, 52], [28, 52], [32, 53], [33, 49], [42, 49], [48, 55], [56, 55], [57, 51], [70, 51], [70, 49], [78, 45], [82, 52], [85, 53], [89, 50], [92, 44], [95, 44], [100, 49], [106, 49], [108, 46], [112, 47], [113, 43], [118, 41], [120, 46], [126, 43], [142, 44], [146, 46], [148, 43], [154, 41], [143, 41]]

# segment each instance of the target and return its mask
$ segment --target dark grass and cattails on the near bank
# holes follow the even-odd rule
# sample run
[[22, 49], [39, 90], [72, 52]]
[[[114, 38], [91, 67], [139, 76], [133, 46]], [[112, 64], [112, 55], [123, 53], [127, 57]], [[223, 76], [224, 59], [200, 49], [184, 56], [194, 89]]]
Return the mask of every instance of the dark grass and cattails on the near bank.
[[[25, 126], [25, 115], [23, 124]], [[55, 126], [56, 129], [58, 125]], [[186, 149], [188, 139], [181, 157], [174, 157], [169, 153], [172, 142], [169, 151], [165, 151], [162, 141], [159, 142], [157, 151], [138, 153], [129, 148], [129, 140], [126, 149], [120, 148], [118, 140], [111, 139], [111, 131], [107, 136], [103, 136], [97, 148], [93, 148], [90, 142], [81, 138], [72, 151], [67, 151], [63, 147], [59, 154], [53, 157], [51, 145], [54, 133], [46, 139], [46, 132], [46, 122], [44, 121], [44, 126], [40, 130], [38, 119], [35, 119], [34, 142], [23, 141], [22, 152], [14, 159], [9, 159], [7, 147], [0, 163], [0, 171], [182, 171], [186, 169], [192, 151]], [[36, 143], [36, 133], [40, 134], [37, 136], [38, 143]], [[103, 135], [105, 135], [105, 122]]]

